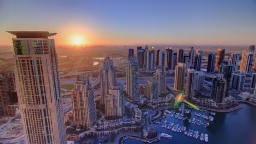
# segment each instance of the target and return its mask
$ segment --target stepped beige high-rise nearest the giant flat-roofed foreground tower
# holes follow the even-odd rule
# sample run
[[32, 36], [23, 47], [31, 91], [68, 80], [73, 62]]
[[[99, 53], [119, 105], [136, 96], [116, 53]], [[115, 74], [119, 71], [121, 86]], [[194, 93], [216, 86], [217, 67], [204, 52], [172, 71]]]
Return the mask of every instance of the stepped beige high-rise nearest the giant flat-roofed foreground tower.
[[93, 85], [89, 82], [89, 75], [77, 75], [75, 90], [71, 92], [74, 124], [88, 128], [97, 121], [94, 101]]

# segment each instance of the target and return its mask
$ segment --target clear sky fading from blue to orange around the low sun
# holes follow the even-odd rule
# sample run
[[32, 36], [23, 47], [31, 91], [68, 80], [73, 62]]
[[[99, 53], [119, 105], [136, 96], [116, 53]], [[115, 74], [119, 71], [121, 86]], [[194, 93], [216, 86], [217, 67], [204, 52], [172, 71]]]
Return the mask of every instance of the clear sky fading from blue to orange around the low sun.
[[0, 0], [5, 30], [58, 32], [56, 43], [82, 35], [95, 44], [256, 43], [256, 0]]

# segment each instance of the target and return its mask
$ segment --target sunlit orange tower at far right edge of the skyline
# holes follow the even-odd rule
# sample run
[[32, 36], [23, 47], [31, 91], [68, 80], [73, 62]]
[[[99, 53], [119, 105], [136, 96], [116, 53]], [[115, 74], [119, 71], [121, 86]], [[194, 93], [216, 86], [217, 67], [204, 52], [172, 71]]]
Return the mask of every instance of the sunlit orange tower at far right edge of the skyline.
[[253, 65], [253, 52], [249, 50], [243, 50], [240, 72], [249, 73]]

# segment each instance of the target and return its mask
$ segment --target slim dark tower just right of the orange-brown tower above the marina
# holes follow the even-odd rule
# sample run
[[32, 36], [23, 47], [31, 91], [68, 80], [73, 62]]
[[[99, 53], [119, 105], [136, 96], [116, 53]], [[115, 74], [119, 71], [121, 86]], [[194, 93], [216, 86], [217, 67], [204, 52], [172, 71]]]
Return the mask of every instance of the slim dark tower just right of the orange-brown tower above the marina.
[[186, 91], [185, 91], [185, 96], [188, 99], [191, 99], [194, 95], [194, 86], [195, 86], [195, 71], [194, 71], [194, 69], [188, 69], [187, 70]]

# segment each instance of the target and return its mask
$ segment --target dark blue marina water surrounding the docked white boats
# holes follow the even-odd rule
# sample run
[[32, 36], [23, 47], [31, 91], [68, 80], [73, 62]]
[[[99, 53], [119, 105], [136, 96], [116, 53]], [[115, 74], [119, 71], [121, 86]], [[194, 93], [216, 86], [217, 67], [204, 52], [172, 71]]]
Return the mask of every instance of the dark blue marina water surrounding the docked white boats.
[[[170, 115], [166, 115], [166, 118], [161, 120], [163, 123], [167, 120], [168, 124], [174, 123], [179, 124], [180, 126], [187, 127], [187, 131], [189, 129], [193, 131], [199, 131], [201, 133], [207, 133], [209, 136], [208, 144], [256, 144], [256, 107], [253, 107], [249, 104], [241, 104], [243, 106], [242, 109], [236, 110], [234, 112], [229, 113], [216, 113], [216, 115], [211, 115], [214, 117], [212, 122], [205, 120], [203, 117], [198, 117], [195, 114], [191, 115], [191, 113], [187, 114], [183, 110], [179, 111], [175, 109], [175, 112], [181, 113], [184, 117], [199, 119], [202, 122], [209, 122], [209, 128], [205, 128], [204, 125], [195, 125], [189, 123], [188, 120], [177, 120]], [[187, 106], [184, 108], [191, 109]], [[171, 111], [172, 109], [169, 109]], [[195, 109], [193, 112], [202, 113], [204, 115], [205, 112], [200, 112]], [[177, 133], [167, 128], [162, 128], [162, 125], [156, 124], [157, 132], [167, 133], [172, 136], [172, 139], [164, 139], [160, 138], [160, 141], [156, 144], [203, 144], [205, 141], [200, 141], [200, 137], [195, 139], [190, 136], [184, 135], [184, 132]], [[144, 144], [143, 141], [137, 141], [135, 139], [127, 139], [125, 140], [125, 144]]]

